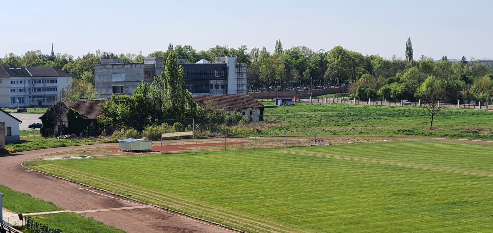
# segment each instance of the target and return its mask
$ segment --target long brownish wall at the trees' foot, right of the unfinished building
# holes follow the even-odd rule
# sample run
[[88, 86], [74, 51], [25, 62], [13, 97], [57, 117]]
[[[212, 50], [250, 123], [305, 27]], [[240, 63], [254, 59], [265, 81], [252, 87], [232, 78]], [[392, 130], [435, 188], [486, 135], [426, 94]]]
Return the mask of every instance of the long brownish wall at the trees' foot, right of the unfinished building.
[[[348, 91], [349, 86], [336, 87], [336, 88], [324, 88], [313, 89], [313, 96], [321, 96], [327, 94], [343, 93]], [[274, 99], [274, 98], [310, 98], [310, 90], [307, 91], [267, 91], [267, 92], [250, 92], [249, 96], [258, 99]]]

